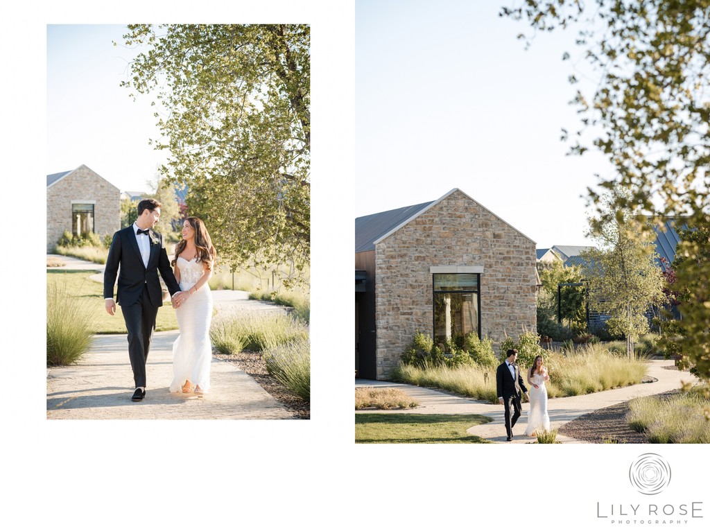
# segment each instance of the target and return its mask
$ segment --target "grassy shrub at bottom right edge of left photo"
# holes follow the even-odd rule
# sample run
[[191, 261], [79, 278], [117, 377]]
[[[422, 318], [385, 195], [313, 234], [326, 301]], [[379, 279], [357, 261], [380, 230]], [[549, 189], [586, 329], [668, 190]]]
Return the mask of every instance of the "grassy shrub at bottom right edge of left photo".
[[263, 352], [266, 370], [303, 400], [310, 400], [310, 341], [300, 337]]

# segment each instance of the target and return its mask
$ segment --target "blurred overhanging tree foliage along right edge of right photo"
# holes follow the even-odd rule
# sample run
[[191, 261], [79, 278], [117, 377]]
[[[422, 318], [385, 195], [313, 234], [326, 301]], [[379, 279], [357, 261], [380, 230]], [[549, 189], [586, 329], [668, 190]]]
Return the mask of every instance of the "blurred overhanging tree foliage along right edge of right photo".
[[[600, 177], [600, 186], [621, 185], [617, 209], [638, 215], [687, 218], [701, 227], [710, 215], [710, 0], [525, 0], [504, 8], [501, 16], [525, 19], [533, 31], [577, 26], [584, 58], [599, 72], [591, 97], [581, 91], [572, 100], [585, 128], [601, 131], [594, 145], [616, 169]], [[523, 35], [521, 35], [522, 37]], [[528, 40], [528, 43], [530, 40]], [[563, 59], [571, 58], [564, 52]], [[570, 80], [577, 82], [572, 74]], [[567, 131], [564, 131], [564, 138]], [[574, 141], [572, 153], [588, 146]], [[588, 190], [592, 202], [599, 195]], [[600, 212], [601, 214], [601, 212]], [[650, 226], [641, 226], [646, 233]], [[687, 272], [678, 290], [697, 290], [700, 305], [710, 303], [710, 268], [697, 243], [683, 241]], [[702, 312], [684, 314], [687, 356], [702, 360], [710, 352], [708, 319]], [[700, 320], [696, 320], [700, 319]], [[704, 364], [701, 364], [705, 366]], [[710, 368], [701, 372], [710, 378]]]

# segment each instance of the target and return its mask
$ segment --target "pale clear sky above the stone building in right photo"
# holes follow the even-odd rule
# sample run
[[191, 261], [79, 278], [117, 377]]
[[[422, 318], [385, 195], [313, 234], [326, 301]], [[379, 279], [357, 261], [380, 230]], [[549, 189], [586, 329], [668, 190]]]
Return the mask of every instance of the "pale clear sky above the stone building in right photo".
[[356, 217], [460, 188], [538, 248], [589, 244], [580, 196], [608, 163], [560, 141], [579, 125], [567, 77], [589, 67], [571, 32], [526, 51], [501, 5], [356, 1]]

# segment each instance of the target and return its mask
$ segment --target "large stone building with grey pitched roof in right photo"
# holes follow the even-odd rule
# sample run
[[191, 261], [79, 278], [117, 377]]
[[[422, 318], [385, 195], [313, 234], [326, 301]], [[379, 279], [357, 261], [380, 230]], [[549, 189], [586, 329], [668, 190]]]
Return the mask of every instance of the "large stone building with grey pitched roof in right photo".
[[435, 344], [536, 327], [535, 242], [458, 188], [355, 220], [355, 365], [386, 380], [417, 331]]

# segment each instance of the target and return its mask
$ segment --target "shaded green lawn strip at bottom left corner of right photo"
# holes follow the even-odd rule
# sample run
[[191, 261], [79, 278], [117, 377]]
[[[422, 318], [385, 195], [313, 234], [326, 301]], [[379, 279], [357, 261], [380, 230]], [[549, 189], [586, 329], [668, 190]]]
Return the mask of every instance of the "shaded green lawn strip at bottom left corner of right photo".
[[418, 415], [358, 413], [355, 442], [359, 443], [488, 443], [466, 429], [486, 424], [483, 415]]

